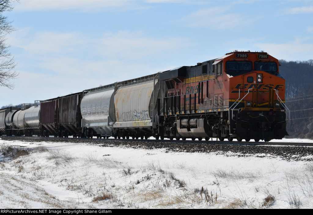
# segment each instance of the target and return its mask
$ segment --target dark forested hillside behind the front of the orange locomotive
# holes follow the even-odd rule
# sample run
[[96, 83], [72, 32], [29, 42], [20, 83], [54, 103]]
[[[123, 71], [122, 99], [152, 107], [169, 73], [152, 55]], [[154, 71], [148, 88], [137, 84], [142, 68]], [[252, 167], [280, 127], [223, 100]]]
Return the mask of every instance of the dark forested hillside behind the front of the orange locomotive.
[[279, 62], [280, 74], [286, 79], [289, 138], [313, 139], [313, 60]]

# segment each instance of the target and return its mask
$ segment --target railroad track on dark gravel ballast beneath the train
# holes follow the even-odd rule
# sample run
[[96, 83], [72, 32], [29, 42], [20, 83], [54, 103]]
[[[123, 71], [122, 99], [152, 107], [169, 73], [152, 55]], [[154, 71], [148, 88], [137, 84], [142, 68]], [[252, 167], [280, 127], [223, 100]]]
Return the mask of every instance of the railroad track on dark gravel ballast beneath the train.
[[[238, 142], [238, 141], [182, 141], [182, 140], [136, 140], [136, 139], [89, 139], [58, 137], [1, 136], [2, 140], [25, 142], [55, 142], [56, 144], [88, 144], [102, 147], [124, 147], [156, 150], [171, 153], [214, 153], [234, 157], [270, 157], [286, 161], [313, 161], [313, 143]], [[153, 151], [155, 153], [156, 151]], [[160, 152], [160, 151], [159, 151]], [[157, 153], [159, 153], [157, 152]], [[260, 161], [261, 162], [261, 161]]]

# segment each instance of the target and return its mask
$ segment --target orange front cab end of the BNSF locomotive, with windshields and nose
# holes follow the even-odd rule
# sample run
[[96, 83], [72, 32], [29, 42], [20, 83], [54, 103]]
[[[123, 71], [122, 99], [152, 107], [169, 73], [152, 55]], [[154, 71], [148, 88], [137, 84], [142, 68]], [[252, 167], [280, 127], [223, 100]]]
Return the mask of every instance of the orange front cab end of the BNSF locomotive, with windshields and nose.
[[285, 79], [265, 52], [234, 52], [229, 77], [229, 133], [241, 140], [282, 139], [286, 132]]

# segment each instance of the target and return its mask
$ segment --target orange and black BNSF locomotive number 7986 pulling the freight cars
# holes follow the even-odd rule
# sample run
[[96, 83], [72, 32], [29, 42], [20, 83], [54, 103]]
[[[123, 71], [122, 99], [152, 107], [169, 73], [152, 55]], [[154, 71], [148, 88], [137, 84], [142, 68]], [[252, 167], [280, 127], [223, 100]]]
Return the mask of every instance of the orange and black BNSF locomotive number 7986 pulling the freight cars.
[[286, 132], [285, 79], [265, 52], [234, 51], [160, 74], [157, 136], [232, 141], [281, 139]]

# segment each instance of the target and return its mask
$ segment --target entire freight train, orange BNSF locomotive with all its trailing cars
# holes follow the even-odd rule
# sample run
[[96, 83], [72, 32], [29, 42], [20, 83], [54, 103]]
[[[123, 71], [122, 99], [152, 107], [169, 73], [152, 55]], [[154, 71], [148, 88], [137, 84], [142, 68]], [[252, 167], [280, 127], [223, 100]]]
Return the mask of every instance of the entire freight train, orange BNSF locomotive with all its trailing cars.
[[2, 135], [232, 141], [282, 139], [289, 110], [280, 63], [225, 56], [0, 110]]

